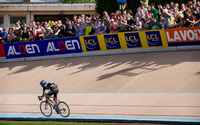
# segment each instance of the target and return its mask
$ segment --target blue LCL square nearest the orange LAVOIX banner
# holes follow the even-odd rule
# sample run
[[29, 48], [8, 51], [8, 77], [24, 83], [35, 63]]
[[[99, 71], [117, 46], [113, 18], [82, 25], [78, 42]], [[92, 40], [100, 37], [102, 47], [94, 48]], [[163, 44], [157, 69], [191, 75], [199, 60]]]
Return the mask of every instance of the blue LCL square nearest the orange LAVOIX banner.
[[146, 38], [147, 38], [147, 42], [149, 44], [149, 47], [151, 47], [151, 46], [163, 46], [162, 45], [162, 39], [161, 39], [159, 31], [150, 31], [150, 32], [145, 32], [145, 33], [146, 33]]

